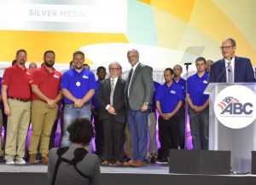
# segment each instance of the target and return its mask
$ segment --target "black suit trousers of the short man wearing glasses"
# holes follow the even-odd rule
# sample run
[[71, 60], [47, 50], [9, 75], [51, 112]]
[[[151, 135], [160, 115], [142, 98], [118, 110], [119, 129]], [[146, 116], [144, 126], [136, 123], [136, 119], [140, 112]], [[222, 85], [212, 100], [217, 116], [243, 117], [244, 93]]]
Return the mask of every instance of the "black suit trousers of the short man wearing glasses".
[[102, 120], [103, 124], [103, 159], [108, 161], [120, 160], [124, 158], [125, 144], [125, 123], [118, 123], [114, 117]]

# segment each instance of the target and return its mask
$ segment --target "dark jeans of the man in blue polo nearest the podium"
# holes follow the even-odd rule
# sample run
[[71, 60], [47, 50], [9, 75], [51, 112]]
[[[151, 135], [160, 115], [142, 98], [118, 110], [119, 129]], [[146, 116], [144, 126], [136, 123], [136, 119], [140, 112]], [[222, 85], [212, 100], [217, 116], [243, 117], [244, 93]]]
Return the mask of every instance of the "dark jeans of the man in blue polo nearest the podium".
[[208, 150], [209, 146], [209, 107], [200, 113], [189, 108], [189, 123], [195, 150]]

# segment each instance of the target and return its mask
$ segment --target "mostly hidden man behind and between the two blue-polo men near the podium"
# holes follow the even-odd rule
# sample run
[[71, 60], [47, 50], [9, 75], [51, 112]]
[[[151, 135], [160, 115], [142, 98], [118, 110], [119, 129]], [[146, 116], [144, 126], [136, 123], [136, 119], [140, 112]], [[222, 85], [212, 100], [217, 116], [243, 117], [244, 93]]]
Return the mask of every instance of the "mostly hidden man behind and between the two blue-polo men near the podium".
[[[173, 72], [174, 72], [174, 78], [173, 81], [175, 81], [177, 84], [179, 84], [184, 92], [184, 95], [186, 94], [186, 80], [181, 78], [181, 74], [183, 73], [183, 67], [180, 65], [173, 66]], [[184, 149], [185, 146], [185, 102], [183, 101], [183, 106], [178, 110], [177, 112], [178, 122], [179, 122], [179, 142], [178, 146], [182, 149]]]

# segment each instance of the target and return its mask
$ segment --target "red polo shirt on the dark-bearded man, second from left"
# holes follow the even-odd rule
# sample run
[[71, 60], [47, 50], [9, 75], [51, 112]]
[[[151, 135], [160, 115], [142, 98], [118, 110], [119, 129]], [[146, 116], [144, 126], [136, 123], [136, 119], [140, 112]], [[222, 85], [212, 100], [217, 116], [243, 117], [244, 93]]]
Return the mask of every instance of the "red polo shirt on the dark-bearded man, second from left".
[[[38, 85], [39, 90], [44, 95], [50, 99], [55, 99], [60, 91], [61, 72], [57, 72], [55, 68], [52, 68], [52, 72], [49, 72], [46, 66], [41, 66], [32, 72], [30, 84]], [[32, 93], [32, 99], [39, 100], [34, 93]]]

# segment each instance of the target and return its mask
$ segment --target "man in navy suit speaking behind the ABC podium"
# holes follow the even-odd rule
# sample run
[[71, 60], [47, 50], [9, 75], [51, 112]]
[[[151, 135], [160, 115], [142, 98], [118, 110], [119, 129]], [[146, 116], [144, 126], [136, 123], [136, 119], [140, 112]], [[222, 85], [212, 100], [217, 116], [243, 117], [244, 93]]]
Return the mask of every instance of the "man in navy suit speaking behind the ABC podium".
[[212, 64], [209, 82], [255, 82], [253, 66], [249, 59], [235, 56], [236, 41], [225, 38], [220, 47], [223, 59]]

